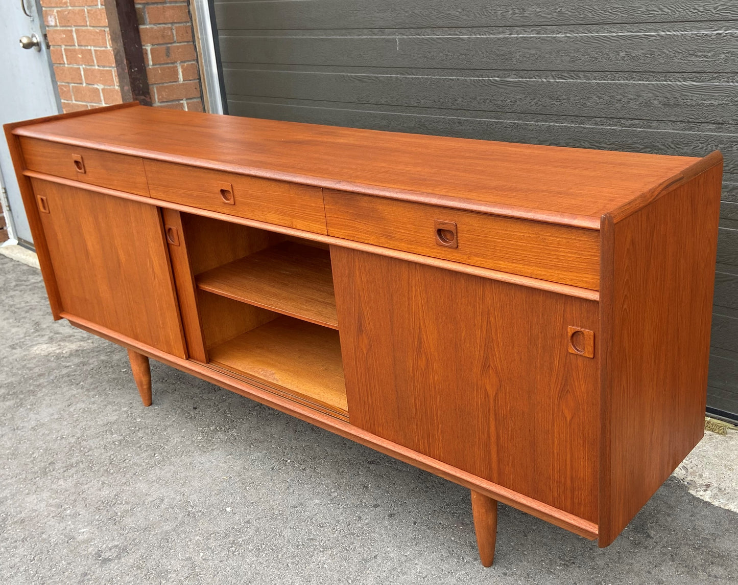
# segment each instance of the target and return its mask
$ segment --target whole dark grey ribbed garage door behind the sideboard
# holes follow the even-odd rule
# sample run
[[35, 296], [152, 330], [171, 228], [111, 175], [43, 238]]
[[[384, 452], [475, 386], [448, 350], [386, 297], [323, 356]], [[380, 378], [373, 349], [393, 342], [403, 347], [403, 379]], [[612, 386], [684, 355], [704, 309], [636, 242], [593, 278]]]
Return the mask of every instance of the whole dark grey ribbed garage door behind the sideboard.
[[738, 2], [215, 0], [230, 114], [725, 156], [708, 406], [738, 413]]

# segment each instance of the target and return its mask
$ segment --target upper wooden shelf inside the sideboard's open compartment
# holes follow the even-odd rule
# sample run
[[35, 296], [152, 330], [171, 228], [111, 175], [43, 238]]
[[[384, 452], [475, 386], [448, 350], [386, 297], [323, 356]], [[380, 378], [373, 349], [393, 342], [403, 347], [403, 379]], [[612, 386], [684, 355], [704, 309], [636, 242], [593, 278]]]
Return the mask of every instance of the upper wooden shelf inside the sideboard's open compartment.
[[207, 270], [196, 281], [201, 290], [338, 329], [328, 250], [282, 242]]

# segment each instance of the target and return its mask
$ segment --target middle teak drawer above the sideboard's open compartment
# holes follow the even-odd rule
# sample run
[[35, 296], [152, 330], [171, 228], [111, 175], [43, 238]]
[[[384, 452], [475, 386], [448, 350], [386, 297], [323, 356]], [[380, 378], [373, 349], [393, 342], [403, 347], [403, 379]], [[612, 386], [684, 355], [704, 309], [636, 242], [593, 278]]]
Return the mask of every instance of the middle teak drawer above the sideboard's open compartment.
[[323, 190], [285, 181], [145, 160], [151, 196], [297, 230], [328, 233]]

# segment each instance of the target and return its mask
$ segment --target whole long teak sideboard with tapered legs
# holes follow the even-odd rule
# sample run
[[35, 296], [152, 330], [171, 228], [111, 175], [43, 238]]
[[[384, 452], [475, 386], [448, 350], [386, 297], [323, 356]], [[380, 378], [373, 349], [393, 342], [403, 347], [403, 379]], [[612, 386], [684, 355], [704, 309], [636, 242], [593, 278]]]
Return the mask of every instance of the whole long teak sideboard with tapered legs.
[[703, 436], [723, 157], [123, 104], [5, 126], [55, 319], [605, 547]]

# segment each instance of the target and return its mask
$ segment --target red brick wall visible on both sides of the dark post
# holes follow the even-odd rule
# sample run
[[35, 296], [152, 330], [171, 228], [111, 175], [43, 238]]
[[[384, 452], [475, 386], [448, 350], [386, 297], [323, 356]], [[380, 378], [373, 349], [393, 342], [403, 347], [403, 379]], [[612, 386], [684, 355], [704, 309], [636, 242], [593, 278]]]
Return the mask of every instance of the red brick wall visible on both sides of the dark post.
[[[187, 1], [135, 0], [151, 101], [202, 111]], [[104, 0], [41, 0], [64, 112], [120, 103]]]

